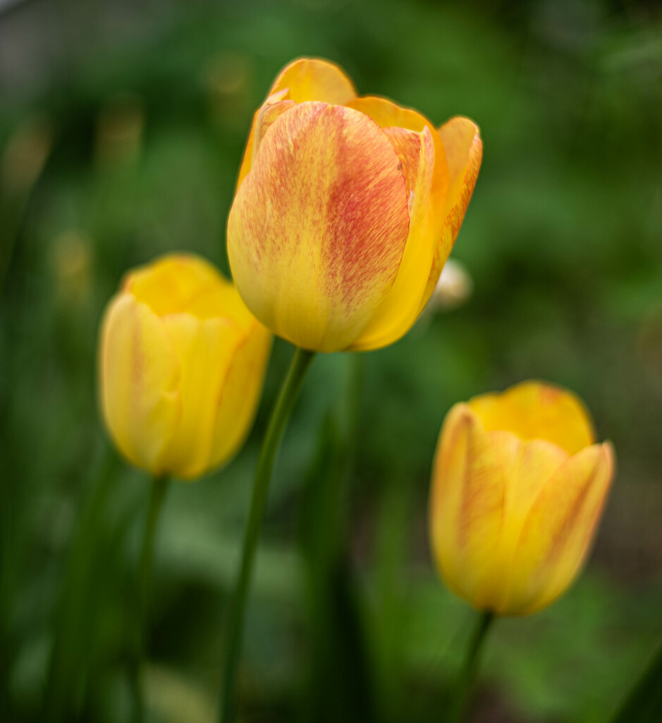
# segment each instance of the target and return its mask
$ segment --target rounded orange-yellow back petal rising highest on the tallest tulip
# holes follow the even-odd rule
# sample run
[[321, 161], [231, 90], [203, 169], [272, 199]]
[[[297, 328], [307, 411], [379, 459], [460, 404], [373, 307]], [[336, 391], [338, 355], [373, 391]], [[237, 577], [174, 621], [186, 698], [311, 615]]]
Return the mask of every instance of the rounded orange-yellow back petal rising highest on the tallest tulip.
[[[274, 95], [279, 101], [292, 101], [303, 103], [305, 100], [319, 100], [322, 103], [331, 103], [335, 106], [344, 106], [356, 95], [352, 81], [335, 64], [326, 60], [315, 58], [302, 58], [295, 60], [285, 67], [276, 78], [274, 85], [269, 90], [266, 103]], [[263, 106], [264, 107], [264, 106]], [[276, 112], [283, 111], [283, 106], [276, 109]], [[261, 109], [253, 116], [251, 133], [248, 135], [246, 150], [239, 169], [237, 188], [248, 175], [253, 164], [253, 141], [255, 137], [258, 117]], [[274, 111], [270, 111], [274, 112]]]

